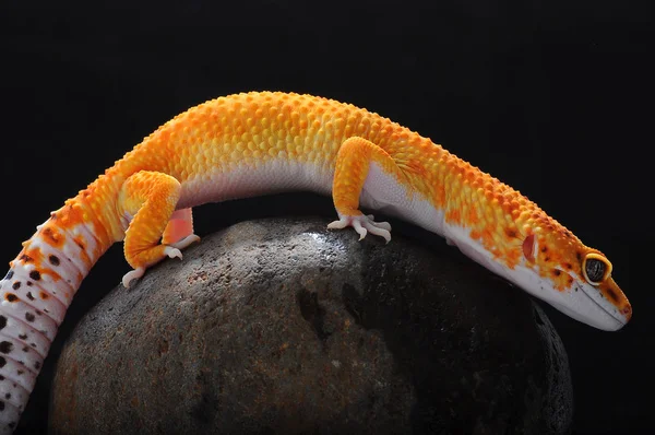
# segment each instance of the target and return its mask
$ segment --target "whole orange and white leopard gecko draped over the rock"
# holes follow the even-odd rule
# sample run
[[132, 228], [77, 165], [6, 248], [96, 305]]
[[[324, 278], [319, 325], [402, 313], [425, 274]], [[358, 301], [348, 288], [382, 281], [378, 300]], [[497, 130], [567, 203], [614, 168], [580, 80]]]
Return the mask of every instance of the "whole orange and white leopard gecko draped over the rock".
[[631, 305], [612, 266], [517, 190], [430, 139], [334, 99], [249, 92], [176, 116], [37, 226], [0, 281], [0, 433], [12, 433], [72, 297], [123, 242], [129, 287], [199, 240], [192, 208], [308, 190], [331, 230], [391, 239], [381, 212], [437, 233], [570, 317], [618, 330]]

